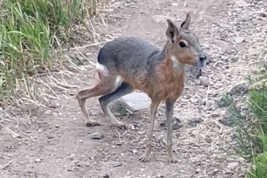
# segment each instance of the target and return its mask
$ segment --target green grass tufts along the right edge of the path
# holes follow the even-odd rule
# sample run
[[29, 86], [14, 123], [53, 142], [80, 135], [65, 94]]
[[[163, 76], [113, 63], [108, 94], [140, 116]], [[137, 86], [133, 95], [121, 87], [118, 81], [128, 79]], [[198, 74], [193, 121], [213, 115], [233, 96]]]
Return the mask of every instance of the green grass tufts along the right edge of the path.
[[236, 117], [239, 154], [251, 163], [247, 177], [267, 178], [267, 68], [259, 77], [247, 79], [252, 86], [257, 86], [250, 90], [250, 114], [242, 115], [234, 103], [229, 110]]

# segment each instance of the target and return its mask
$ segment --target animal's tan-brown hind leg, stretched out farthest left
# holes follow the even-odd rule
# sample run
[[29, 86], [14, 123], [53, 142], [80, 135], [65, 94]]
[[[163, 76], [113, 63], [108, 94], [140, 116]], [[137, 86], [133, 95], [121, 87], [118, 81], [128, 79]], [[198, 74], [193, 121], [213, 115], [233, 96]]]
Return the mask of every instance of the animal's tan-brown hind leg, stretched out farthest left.
[[84, 117], [84, 124], [86, 126], [100, 125], [95, 120], [88, 117], [88, 113], [85, 107], [86, 99], [111, 93], [114, 90], [116, 90], [117, 85], [120, 84], [118, 83], [120, 82], [118, 80], [118, 77], [105, 77], [105, 78], [102, 77], [101, 79], [102, 80], [99, 83], [97, 83], [95, 86], [81, 89], [78, 91], [76, 95], [76, 98], [78, 99], [79, 105], [81, 107], [81, 112]]

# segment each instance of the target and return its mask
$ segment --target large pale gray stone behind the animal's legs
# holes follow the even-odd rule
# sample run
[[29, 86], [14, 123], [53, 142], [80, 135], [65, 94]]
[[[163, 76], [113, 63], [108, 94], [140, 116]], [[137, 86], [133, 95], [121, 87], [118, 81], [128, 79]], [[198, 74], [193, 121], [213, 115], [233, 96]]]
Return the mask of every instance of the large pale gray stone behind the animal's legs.
[[151, 99], [146, 93], [132, 92], [109, 104], [112, 111], [119, 112], [121, 108], [128, 109], [131, 112], [148, 109]]

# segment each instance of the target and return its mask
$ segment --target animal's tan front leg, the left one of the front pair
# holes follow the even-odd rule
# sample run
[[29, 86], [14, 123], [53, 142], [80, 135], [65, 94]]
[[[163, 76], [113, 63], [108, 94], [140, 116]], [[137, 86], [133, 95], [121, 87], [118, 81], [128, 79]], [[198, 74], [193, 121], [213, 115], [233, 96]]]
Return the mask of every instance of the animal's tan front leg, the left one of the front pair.
[[142, 162], [148, 162], [148, 157], [151, 152], [152, 147], [152, 136], [153, 136], [153, 129], [154, 129], [154, 123], [157, 113], [157, 108], [159, 106], [159, 101], [153, 101], [151, 102], [151, 108], [150, 108], [150, 123], [148, 127], [148, 140], [146, 142], [145, 152], [144, 154], [139, 158]]

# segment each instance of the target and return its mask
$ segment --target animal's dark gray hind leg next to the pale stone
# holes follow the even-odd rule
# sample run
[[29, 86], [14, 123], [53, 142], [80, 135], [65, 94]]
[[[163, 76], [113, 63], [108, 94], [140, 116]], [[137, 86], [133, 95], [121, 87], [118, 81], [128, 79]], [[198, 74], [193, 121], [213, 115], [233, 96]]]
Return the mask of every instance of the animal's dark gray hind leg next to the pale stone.
[[111, 124], [113, 126], [122, 127], [124, 126], [124, 123], [119, 122], [116, 117], [110, 112], [108, 109], [108, 104], [111, 101], [114, 101], [121, 96], [127, 95], [128, 93], [131, 93], [134, 89], [126, 82], [122, 82], [121, 85], [112, 93], [106, 94], [104, 96], [101, 96], [98, 98], [100, 106], [103, 110], [103, 112], [108, 116]]

